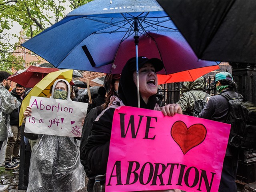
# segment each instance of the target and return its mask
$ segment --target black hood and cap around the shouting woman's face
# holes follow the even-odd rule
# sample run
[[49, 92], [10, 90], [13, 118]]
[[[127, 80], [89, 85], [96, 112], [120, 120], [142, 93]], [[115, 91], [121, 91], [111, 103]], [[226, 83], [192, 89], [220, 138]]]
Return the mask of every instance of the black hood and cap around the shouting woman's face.
[[[158, 58], [151, 58], [148, 59], [146, 57], [139, 57], [138, 64], [139, 69], [146, 63], [150, 62], [155, 67], [156, 72], [162, 70], [163, 63]], [[122, 102], [126, 106], [138, 107], [138, 94], [137, 94], [137, 87], [133, 81], [133, 73], [136, 71], [136, 58], [129, 59], [121, 74], [119, 88], [118, 88], [118, 95]], [[146, 109], [154, 109], [156, 105], [156, 94], [150, 96], [148, 104], [144, 102], [142, 97], [140, 96], [140, 107]]]

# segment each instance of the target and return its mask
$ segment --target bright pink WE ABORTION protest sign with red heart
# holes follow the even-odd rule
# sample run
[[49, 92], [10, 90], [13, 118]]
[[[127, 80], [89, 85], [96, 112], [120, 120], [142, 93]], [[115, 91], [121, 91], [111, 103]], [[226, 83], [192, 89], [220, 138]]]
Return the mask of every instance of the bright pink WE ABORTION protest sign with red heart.
[[123, 106], [114, 112], [106, 192], [218, 192], [230, 124]]

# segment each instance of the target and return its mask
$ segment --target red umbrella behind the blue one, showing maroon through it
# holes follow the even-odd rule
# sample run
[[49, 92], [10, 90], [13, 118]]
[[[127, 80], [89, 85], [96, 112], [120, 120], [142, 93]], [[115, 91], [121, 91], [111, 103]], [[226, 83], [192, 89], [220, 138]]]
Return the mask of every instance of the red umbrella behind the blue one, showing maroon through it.
[[[126, 39], [118, 48], [111, 73], [120, 73], [123, 65], [135, 52], [134, 39]], [[158, 72], [158, 84], [194, 81], [200, 76], [219, 69], [217, 62], [198, 60], [185, 41], [178, 41], [157, 33], [149, 32], [139, 39], [139, 56], [159, 58], [164, 69]], [[167, 75], [166, 75], [167, 74]]]

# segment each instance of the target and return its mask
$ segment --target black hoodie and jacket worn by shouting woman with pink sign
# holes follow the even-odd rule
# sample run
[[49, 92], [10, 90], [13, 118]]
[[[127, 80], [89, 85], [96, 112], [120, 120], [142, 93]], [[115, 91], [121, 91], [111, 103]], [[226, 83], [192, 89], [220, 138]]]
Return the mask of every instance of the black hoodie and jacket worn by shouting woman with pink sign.
[[[134, 60], [132, 58], [131, 60]], [[140, 57], [139, 68], [148, 61], [145, 57]], [[129, 60], [130, 61], [130, 60]], [[118, 94], [124, 105], [138, 107], [137, 87], [133, 81], [134, 61], [127, 62], [122, 70], [119, 82]], [[158, 59], [151, 59], [154, 64], [158, 64], [158, 70], [162, 69], [162, 62]], [[159, 63], [160, 61], [160, 63]], [[156, 68], [156, 67], [155, 67]], [[119, 105], [120, 104], [116, 104]], [[149, 98], [148, 104], [140, 97], [140, 107], [146, 109], [154, 109], [156, 106], [156, 95]], [[87, 191], [92, 192], [94, 178], [99, 174], [106, 174], [109, 144], [111, 136], [112, 121], [115, 108], [107, 108], [93, 122], [92, 131], [87, 138], [87, 142], [81, 141], [80, 161], [84, 166], [86, 175], [89, 178]], [[85, 143], [85, 146], [82, 144]]]

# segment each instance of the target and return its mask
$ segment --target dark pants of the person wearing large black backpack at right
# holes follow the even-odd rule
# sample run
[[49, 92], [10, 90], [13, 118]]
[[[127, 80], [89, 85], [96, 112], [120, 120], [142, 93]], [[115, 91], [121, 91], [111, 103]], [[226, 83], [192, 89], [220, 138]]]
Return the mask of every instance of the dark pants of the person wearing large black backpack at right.
[[219, 192], [237, 192], [236, 172], [238, 166], [238, 154], [225, 156], [220, 179]]

